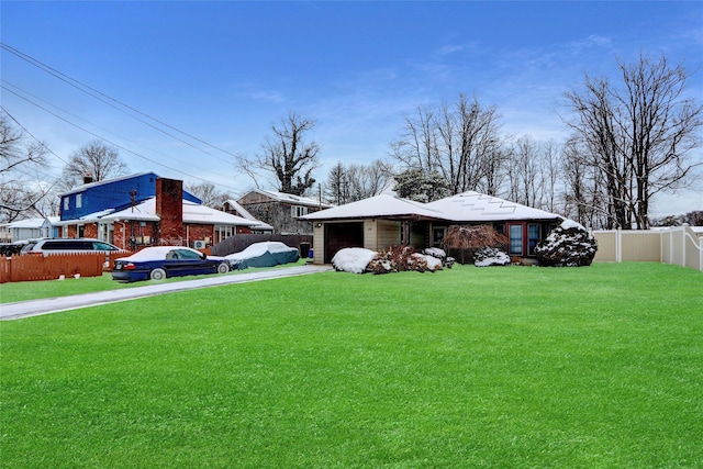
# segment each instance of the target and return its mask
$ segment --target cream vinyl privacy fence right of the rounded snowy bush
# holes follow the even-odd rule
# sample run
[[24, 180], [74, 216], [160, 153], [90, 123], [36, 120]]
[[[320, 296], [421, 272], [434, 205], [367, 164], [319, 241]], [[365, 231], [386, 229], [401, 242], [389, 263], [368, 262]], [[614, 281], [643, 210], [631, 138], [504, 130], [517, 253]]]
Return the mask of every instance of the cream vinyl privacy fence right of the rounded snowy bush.
[[599, 230], [594, 261], [651, 261], [703, 272], [703, 237], [690, 226], [662, 230]]

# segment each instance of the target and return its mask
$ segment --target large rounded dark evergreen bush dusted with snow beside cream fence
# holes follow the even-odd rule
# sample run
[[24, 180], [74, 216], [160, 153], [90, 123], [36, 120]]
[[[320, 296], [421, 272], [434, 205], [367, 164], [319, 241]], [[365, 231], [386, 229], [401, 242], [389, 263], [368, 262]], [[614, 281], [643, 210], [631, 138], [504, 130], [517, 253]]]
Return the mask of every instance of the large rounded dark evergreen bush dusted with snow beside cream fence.
[[535, 247], [542, 266], [590, 266], [598, 250], [598, 242], [583, 226], [566, 220]]

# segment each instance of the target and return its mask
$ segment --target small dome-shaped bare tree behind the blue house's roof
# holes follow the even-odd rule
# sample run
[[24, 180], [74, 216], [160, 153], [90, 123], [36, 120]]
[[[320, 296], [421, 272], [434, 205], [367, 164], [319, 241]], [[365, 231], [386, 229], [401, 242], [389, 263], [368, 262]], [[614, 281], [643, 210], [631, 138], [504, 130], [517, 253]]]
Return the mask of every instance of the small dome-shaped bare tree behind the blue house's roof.
[[83, 183], [86, 177], [97, 182], [127, 172], [127, 166], [120, 158], [116, 148], [93, 139], [71, 154], [64, 168], [60, 186], [68, 190]]

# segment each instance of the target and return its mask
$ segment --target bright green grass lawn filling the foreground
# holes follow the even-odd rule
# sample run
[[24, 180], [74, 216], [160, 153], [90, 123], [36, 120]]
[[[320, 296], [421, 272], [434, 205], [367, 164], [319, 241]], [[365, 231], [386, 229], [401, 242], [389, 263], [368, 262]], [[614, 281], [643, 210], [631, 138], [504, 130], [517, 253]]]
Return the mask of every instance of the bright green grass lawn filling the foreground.
[[703, 275], [324, 272], [0, 323], [3, 468], [695, 468]]

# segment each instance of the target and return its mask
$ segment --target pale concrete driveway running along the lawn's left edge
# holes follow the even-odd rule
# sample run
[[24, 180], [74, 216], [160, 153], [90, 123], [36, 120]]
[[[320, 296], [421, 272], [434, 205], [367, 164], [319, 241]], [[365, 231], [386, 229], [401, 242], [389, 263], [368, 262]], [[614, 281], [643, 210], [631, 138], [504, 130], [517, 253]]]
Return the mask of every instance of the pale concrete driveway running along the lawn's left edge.
[[57, 313], [59, 311], [77, 310], [97, 304], [114, 303], [134, 300], [136, 298], [172, 293], [175, 291], [193, 290], [197, 288], [219, 287], [231, 283], [244, 283], [276, 279], [281, 277], [304, 276], [332, 270], [330, 266], [297, 266], [260, 272], [239, 275], [205, 276], [197, 280], [183, 280], [171, 283], [153, 283], [144, 287], [125, 288], [122, 290], [100, 291], [96, 293], [74, 294], [71, 297], [46, 298], [43, 300], [19, 301], [16, 303], [0, 304], [0, 321], [19, 320], [41, 314]]

